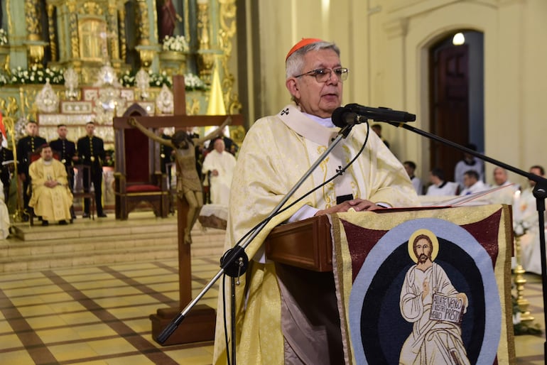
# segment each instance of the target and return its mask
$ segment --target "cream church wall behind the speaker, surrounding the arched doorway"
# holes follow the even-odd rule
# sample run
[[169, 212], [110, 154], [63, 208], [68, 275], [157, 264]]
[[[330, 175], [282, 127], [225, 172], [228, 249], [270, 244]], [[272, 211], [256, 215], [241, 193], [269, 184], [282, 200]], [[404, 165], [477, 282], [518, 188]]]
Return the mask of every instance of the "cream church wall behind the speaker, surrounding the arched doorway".
[[[427, 48], [456, 30], [472, 29], [484, 33], [484, 153], [522, 170], [536, 163], [547, 165], [540, 148], [547, 131], [547, 1], [259, 3], [262, 61], [257, 116], [274, 114], [288, 102], [284, 57], [300, 38], [313, 36], [340, 45], [342, 63], [351, 72], [344, 102], [410, 111], [417, 115], [413, 126], [427, 130]], [[328, 16], [323, 4], [330, 4]], [[384, 126], [384, 136], [401, 160], [416, 160], [418, 173], [426, 180], [428, 142], [389, 125]], [[492, 170], [487, 164], [487, 182]], [[526, 185], [524, 179], [510, 175]]]

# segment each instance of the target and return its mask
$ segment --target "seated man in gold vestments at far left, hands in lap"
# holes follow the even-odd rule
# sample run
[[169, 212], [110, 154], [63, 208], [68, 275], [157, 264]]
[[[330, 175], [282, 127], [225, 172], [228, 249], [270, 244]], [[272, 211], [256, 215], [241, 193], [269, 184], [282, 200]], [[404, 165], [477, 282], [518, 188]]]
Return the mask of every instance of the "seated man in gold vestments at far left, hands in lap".
[[34, 214], [42, 217], [42, 225], [50, 221], [67, 224], [71, 219], [72, 192], [68, 187], [65, 165], [53, 158], [49, 145], [40, 149], [40, 158], [28, 168], [31, 176], [32, 196], [28, 203]]

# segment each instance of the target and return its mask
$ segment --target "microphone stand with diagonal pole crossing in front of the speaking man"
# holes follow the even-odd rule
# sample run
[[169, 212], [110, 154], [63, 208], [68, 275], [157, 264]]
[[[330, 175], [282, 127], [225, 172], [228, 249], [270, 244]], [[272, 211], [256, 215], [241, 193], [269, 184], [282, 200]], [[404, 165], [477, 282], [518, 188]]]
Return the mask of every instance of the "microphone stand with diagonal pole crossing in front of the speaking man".
[[[186, 305], [186, 307], [182, 311], [180, 311], [179, 315], [173, 318], [173, 320], [169, 323], [169, 325], [167, 325], [167, 327], [163, 329], [163, 331], [158, 335], [158, 338], [156, 339], [158, 343], [163, 344], [164, 342], [167, 341], [170, 335], [173, 334], [173, 332], [175, 332], [175, 329], [177, 329], [177, 327], [180, 325], [180, 322], [182, 322], [184, 318], [186, 317], [186, 315], [188, 315], [188, 312], [190, 312], [190, 310], [197, 304], [197, 302], [201, 300], [201, 298], [205, 295], [205, 293], [207, 293], [207, 291], [210, 290], [212, 285], [214, 285], [217, 282], [217, 280], [220, 278], [220, 276], [222, 276], [222, 274], [225, 273], [227, 276], [231, 276], [233, 280], [233, 278], [239, 277], [243, 273], [245, 273], [249, 263], [249, 258], [247, 257], [247, 254], [245, 253], [245, 249], [247, 248], [247, 246], [249, 246], [249, 244], [251, 244], [251, 241], [253, 241], [253, 239], [260, 233], [260, 231], [264, 229], [264, 227], [266, 227], [266, 224], [268, 224], [268, 222], [273, 217], [275, 217], [276, 214], [278, 214], [281, 207], [285, 205], [285, 203], [289, 200], [289, 198], [293, 196], [296, 190], [298, 190], [300, 185], [302, 185], [303, 182], [311, 175], [311, 173], [313, 173], [313, 170], [315, 170], [315, 168], [317, 168], [318, 165], [320, 165], [320, 163], [322, 163], [323, 160], [325, 160], [325, 158], [330, 153], [330, 151], [332, 151], [332, 148], [335, 148], [335, 146], [338, 143], [340, 143], [342, 138], [346, 138], [347, 135], [350, 134], [350, 131], [353, 126], [354, 124], [348, 124], [347, 126], [342, 128], [340, 132], [338, 132], [338, 136], [332, 141], [332, 143], [330, 143], [330, 145], [327, 147], [325, 152], [323, 152], [323, 154], [319, 156], [318, 160], [316, 160], [315, 163], [311, 165], [309, 170], [306, 171], [306, 173], [302, 176], [302, 178], [300, 178], [300, 180], [296, 182], [296, 184], [291, 188], [291, 190], [287, 192], [287, 194], [285, 195], [285, 197], [283, 197], [281, 202], [279, 202], [279, 204], [275, 208], [273, 208], [273, 210], [270, 212], [268, 217], [266, 217], [266, 219], [264, 219], [258, 226], [256, 226], [253, 229], [252, 233], [247, 237], [247, 239], [242, 244], [236, 244], [234, 247], [232, 247], [232, 249], [229, 249], [228, 251], [224, 253], [224, 255], [222, 256], [220, 260], [220, 267], [221, 267], [220, 271], [218, 271], [215, 274], [215, 276], [212, 277], [209, 283], [205, 285], [202, 291], [199, 294], [197, 294], [197, 296], [190, 303], [188, 303], [188, 305]], [[233, 281], [231, 286], [232, 286], [232, 290], [234, 290]], [[232, 315], [232, 351], [233, 351], [232, 365], [235, 365], [235, 344], [234, 344], [235, 305], [234, 305], [233, 292], [232, 292], [232, 308], [230, 313]]]

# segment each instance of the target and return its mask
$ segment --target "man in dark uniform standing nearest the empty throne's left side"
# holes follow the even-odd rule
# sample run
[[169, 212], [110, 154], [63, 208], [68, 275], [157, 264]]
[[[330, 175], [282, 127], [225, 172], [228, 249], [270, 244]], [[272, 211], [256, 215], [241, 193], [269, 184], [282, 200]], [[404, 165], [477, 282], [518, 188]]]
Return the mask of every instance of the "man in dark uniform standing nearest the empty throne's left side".
[[[95, 124], [88, 121], [85, 125], [87, 136], [78, 139], [77, 151], [82, 165], [91, 167], [91, 182], [95, 190], [95, 204], [97, 205], [97, 217], [104, 218], [102, 210], [102, 161], [104, 160], [104, 142], [102, 138], [94, 136]], [[86, 170], [84, 171], [84, 190], [90, 191]], [[84, 218], [90, 217], [90, 200], [84, 199]]]

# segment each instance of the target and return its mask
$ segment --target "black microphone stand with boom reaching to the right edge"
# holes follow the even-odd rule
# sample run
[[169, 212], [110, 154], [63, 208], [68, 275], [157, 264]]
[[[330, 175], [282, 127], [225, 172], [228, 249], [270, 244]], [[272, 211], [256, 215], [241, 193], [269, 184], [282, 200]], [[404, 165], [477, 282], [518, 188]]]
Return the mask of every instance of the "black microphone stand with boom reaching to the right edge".
[[[422, 131], [421, 129], [415, 128], [413, 126], [409, 126], [408, 124], [394, 122], [394, 121], [388, 121], [387, 123], [391, 124], [392, 126], [408, 129], [408, 131], [412, 131], [416, 134], [420, 134], [421, 136], [425, 136], [426, 138], [430, 138], [430, 139], [433, 139], [434, 141], [438, 141], [445, 145], [456, 148], [457, 150], [469, 153], [470, 155], [480, 158], [481, 160], [487, 161], [489, 163], [493, 163], [494, 165], [497, 165], [501, 168], [512, 171], [518, 175], [524, 176], [525, 178], [528, 178], [529, 180], [534, 180], [536, 182], [536, 186], [534, 187], [534, 197], [536, 197], [536, 207], [538, 210], [538, 228], [539, 228], [539, 245], [540, 245], [539, 248], [541, 253], [541, 285], [543, 288], [543, 315], [544, 315], [543, 318], [545, 320], [544, 322], [545, 327], [543, 328], [547, 329], [547, 271], [546, 271], [547, 259], [546, 259], [546, 247], [545, 247], [545, 213], [544, 213], [545, 199], [547, 197], [547, 179], [542, 178], [541, 176], [535, 175], [533, 173], [527, 173], [524, 170], [520, 170], [519, 168], [515, 168], [511, 165], [507, 165], [507, 163], [502, 163], [499, 160], [494, 160], [494, 158], [489, 158], [488, 156], [484, 156], [481, 153], [478, 153], [477, 151], [470, 150], [469, 148], [461, 146], [457, 143], [448, 141], [448, 139], [435, 136], [435, 134], [430, 134], [426, 131]], [[547, 355], [547, 342], [543, 342], [543, 355]]]

